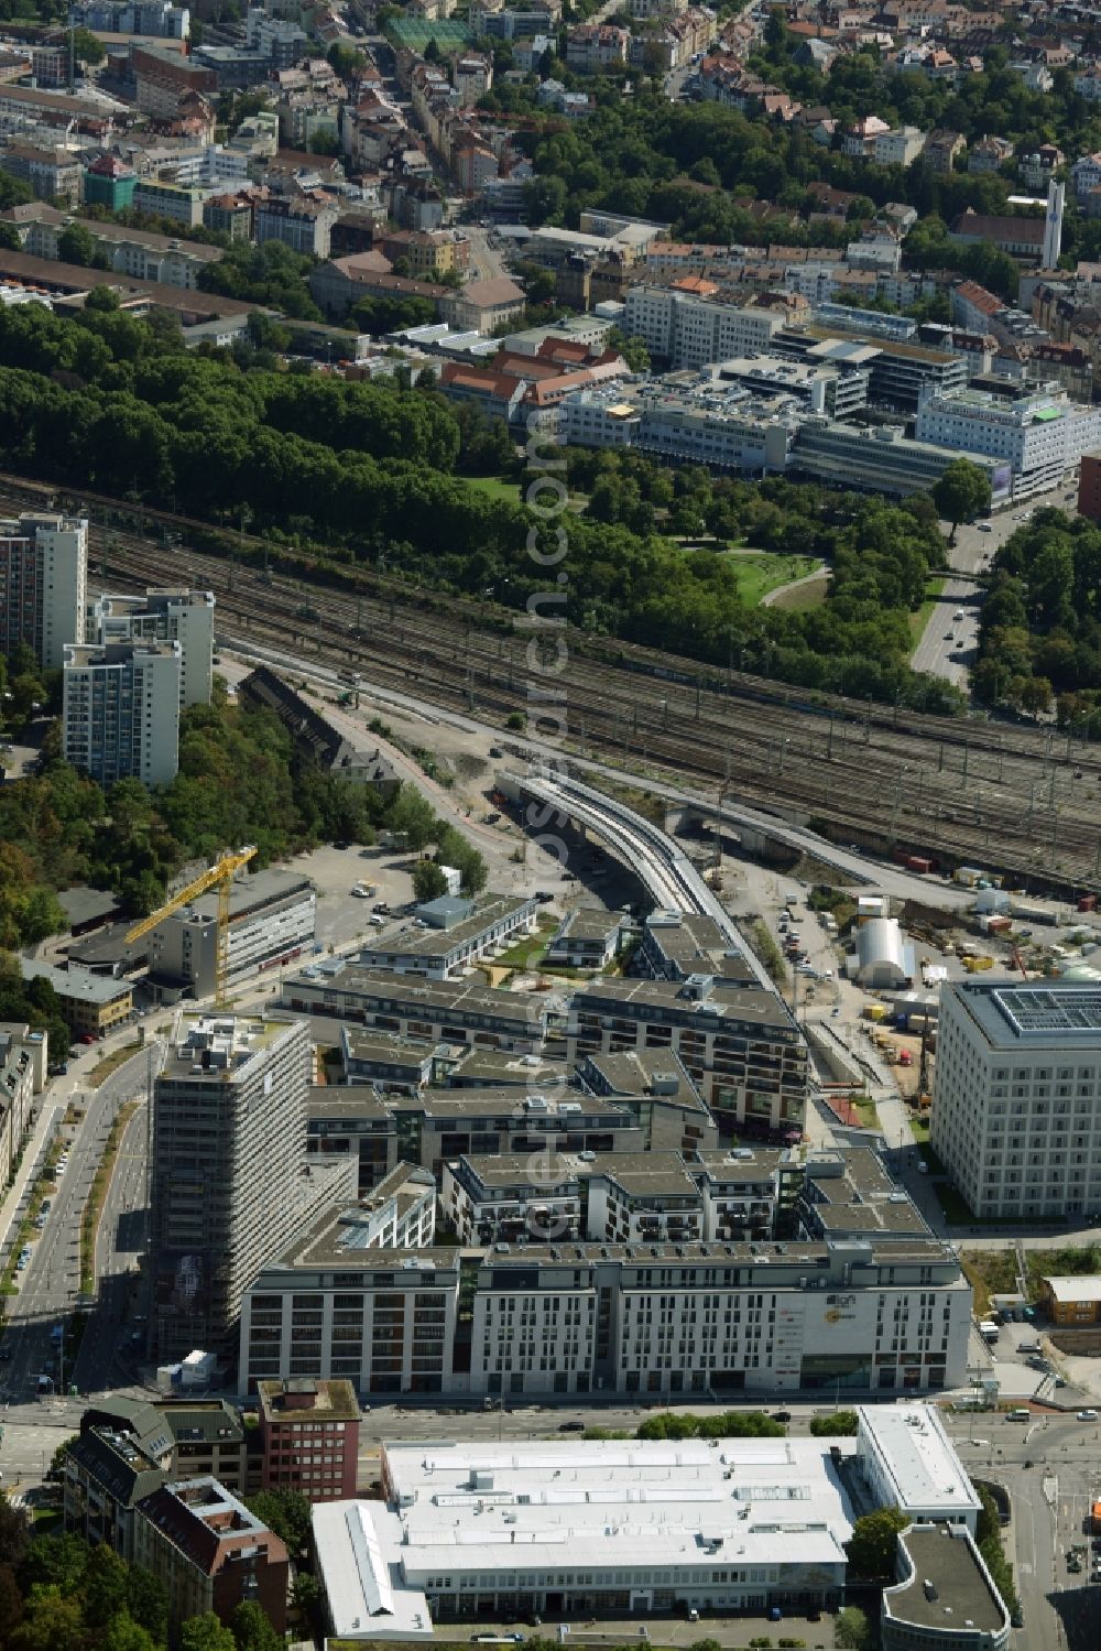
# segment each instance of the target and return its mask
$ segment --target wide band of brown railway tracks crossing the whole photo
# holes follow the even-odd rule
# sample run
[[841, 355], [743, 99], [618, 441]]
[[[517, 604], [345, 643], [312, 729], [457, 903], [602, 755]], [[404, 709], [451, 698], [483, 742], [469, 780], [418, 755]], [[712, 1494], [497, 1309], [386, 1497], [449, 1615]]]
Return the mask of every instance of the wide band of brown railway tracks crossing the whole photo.
[[[45, 492], [0, 475], [8, 505], [28, 497], [41, 505]], [[157, 518], [210, 532], [185, 517]], [[243, 545], [256, 551], [262, 542]], [[266, 580], [254, 566], [160, 546], [125, 528], [92, 528], [97, 568], [107, 584], [210, 586], [226, 636], [352, 665], [383, 687], [490, 721], [525, 712], [535, 723], [545, 707], [528, 703], [528, 682], [561, 682], [569, 748], [692, 776], [697, 788], [812, 821], [834, 839], [1101, 888], [1101, 748], [1053, 730], [829, 697], [809, 703], [768, 679], [573, 631], [563, 632], [569, 657], [561, 679], [540, 677], [528, 664], [532, 637], [507, 629], [513, 616], [500, 609], [414, 598], [370, 571], [348, 593], [284, 575]]]

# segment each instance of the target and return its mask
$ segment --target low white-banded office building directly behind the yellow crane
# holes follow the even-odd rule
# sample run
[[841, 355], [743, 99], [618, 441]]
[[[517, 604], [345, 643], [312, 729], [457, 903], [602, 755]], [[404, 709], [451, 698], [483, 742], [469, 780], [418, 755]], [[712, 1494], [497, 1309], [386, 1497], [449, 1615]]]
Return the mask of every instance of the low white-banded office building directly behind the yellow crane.
[[[309, 877], [269, 867], [229, 885], [226, 981], [282, 967], [314, 948], [317, 893]], [[149, 936], [149, 974], [165, 1001], [210, 997], [218, 984], [218, 890], [165, 918]]]

